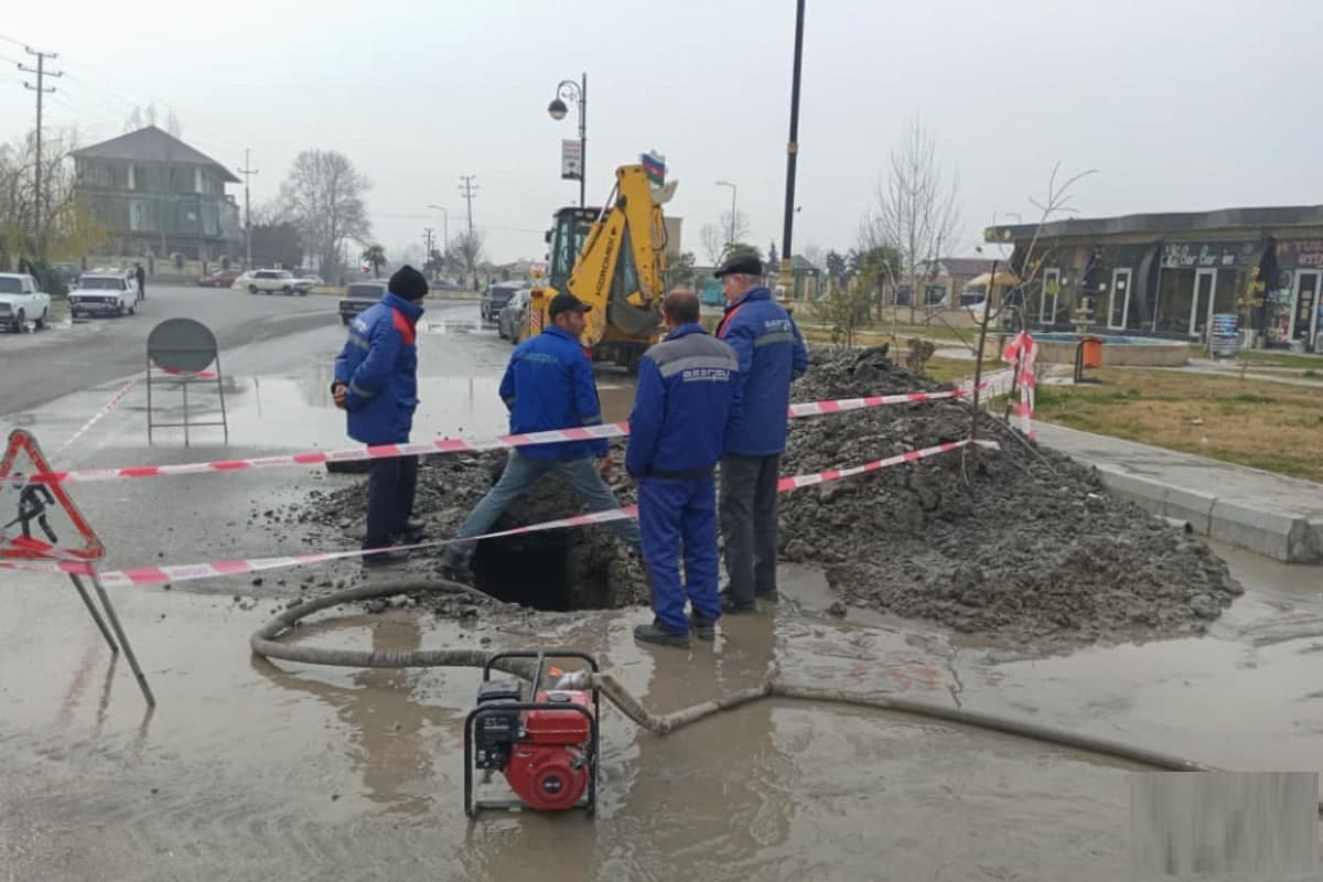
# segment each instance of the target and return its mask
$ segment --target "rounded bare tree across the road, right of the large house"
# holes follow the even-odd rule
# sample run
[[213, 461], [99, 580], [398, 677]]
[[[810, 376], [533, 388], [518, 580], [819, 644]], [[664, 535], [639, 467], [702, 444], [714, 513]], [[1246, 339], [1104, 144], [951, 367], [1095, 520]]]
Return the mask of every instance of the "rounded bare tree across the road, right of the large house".
[[280, 205], [318, 258], [323, 278], [336, 278], [348, 242], [369, 245], [372, 223], [364, 196], [372, 184], [344, 153], [306, 149], [280, 185]]

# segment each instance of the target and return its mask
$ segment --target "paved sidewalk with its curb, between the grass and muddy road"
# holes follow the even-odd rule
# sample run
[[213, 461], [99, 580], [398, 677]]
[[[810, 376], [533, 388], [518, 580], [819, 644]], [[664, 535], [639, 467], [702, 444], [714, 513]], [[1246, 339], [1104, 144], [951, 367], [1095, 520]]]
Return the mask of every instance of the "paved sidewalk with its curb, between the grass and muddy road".
[[1118, 496], [1283, 563], [1323, 563], [1323, 484], [1035, 423], [1039, 442], [1097, 467]]

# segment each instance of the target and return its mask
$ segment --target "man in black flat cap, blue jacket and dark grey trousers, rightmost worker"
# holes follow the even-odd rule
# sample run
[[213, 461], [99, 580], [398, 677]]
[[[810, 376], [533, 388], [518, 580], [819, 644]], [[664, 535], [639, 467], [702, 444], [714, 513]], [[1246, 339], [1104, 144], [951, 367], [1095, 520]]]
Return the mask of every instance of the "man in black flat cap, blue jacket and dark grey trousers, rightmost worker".
[[790, 315], [762, 284], [762, 262], [736, 254], [716, 276], [726, 296], [717, 327], [740, 358], [740, 418], [721, 459], [721, 536], [726, 546], [725, 612], [777, 600], [777, 484], [786, 450], [790, 383], [808, 369], [808, 349]]

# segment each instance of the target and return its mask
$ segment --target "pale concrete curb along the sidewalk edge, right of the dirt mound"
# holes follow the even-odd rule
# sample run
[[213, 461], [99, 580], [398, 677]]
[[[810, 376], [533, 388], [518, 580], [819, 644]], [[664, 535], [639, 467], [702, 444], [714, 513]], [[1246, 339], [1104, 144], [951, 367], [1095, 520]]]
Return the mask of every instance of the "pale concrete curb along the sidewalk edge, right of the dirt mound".
[[1185, 521], [1200, 536], [1282, 563], [1323, 563], [1323, 520], [1311, 521], [1220, 499], [1213, 493], [1131, 475], [1107, 463], [1093, 465], [1110, 492], [1154, 514]]

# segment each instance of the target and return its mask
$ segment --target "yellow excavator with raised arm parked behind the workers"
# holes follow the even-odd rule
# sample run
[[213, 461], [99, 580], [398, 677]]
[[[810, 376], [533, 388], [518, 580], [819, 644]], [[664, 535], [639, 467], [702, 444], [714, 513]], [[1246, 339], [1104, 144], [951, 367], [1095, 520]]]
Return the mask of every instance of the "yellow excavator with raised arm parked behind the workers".
[[662, 206], [676, 181], [655, 188], [643, 165], [615, 169], [607, 206], [562, 208], [548, 230], [550, 267], [533, 283], [521, 337], [550, 324], [552, 298], [569, 291], [593, 308], [581, 337], [594, 361], [614, 361], [631, 373], [662, 336], [667, 233]]

